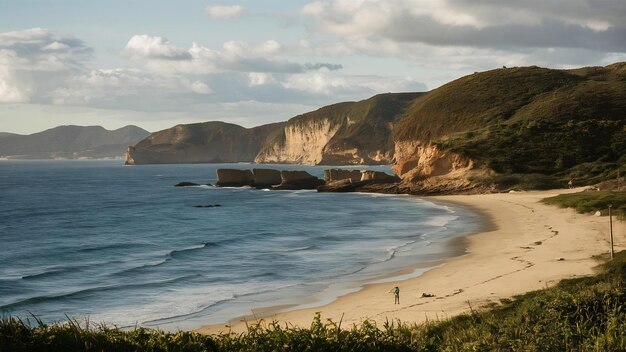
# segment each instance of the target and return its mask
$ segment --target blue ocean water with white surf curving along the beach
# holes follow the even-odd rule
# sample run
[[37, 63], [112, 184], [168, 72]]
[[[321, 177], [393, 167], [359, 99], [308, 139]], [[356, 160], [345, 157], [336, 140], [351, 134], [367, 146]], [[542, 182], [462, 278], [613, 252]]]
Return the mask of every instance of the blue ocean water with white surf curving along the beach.
[[253, 167], [329, 168], [1, 161], [0, 314], [194, 329], [417, 276], [480, 226], [409, 196], [173, 187]]

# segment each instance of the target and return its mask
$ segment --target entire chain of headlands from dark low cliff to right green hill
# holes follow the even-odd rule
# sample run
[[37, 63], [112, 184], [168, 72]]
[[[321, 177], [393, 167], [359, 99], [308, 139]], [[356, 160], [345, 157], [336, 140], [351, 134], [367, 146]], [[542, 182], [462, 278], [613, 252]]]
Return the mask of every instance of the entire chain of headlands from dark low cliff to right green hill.
[[391, 164], [400, 178], [359, 184], [364, 180], [345, 170], [327, 177], [324, 187], [337, 191], [558, 188], [571, 179], [585, 185], [615, 177], [626, 164], [625, 116], [626, 63], [501, 68], [426, 93], [329, 105], [258, 130], [176, 126], [131, 147], [127, 163]]

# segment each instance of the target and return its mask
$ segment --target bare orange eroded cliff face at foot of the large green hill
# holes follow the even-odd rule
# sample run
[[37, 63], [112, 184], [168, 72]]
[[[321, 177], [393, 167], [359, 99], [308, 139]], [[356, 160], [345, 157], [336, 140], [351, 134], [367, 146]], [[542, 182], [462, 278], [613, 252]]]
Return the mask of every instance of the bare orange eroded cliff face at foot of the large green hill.
[[490, 171], [449, 150], [421, 141], [396, 141], [392, 170], [402, 187], [414, 193], [463, 193], [488, 191], [475, 181]]

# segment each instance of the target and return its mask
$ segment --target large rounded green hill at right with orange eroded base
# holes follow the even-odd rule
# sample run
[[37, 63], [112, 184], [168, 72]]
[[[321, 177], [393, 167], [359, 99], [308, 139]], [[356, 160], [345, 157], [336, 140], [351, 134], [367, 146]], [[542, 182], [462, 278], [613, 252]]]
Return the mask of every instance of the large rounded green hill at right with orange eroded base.
[[626, 163], [626, 64], [475, 73], [416, 99], [394, 130], [414, 192], [590, 183]]

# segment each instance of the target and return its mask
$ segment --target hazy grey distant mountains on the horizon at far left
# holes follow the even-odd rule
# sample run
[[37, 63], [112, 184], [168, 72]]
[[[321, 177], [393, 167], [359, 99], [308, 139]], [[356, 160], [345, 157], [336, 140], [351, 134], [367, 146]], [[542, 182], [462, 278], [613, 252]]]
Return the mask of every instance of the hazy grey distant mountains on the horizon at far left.
[[9, 159], [121, 158], [129, 145], [150, 135], [137, 126], [59, 126], [30, 135], [0, 134], [0, 156]]

